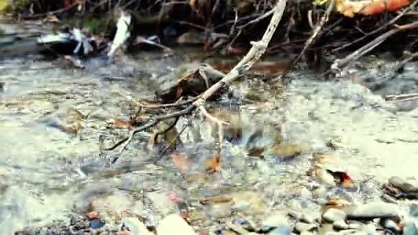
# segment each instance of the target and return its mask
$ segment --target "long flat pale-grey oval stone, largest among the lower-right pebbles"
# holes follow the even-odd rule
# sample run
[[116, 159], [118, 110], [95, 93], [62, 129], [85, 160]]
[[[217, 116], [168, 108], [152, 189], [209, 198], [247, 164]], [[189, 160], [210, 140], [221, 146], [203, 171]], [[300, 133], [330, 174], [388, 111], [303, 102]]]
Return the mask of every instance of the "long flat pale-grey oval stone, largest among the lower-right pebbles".
[[363, 205], [353, 205], [344, 208], [349, 219], [372, 220], [375, 218], [397, 217], [399, 210], [396, 205], [384, 202], [373, 202]]

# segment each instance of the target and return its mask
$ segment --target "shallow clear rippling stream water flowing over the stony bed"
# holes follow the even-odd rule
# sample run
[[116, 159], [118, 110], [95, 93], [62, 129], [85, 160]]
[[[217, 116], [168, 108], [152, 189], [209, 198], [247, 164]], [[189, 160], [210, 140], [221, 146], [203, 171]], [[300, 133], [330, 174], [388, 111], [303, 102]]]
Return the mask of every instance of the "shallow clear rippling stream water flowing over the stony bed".
[[[418, 109], [402, 111], [401, 104], [385, 101], [351, 79], [322, 82], [302, 70], [291, 74], [293, 81], [281, 96], [274, 85], [251, 79], [232, 88], [238, 98], [250, 91], [262, 97], [264, 107], [250, 105], [241, 113], [253, 122], [252, 128], [281, 125], [285, 142], [307, 149], [296, 159], [254, 158], [239, 144], [225, 143], [221, 172], [189, 179], [169, 159], [158, 166], [141, 164], [153, 154], [146, 150], [149, 135], [142, 134], [117, 164], [109, 166], [109, 154], [100, 154], [100, 139], [109, 144], [109, 139], [127, 134], [109, 120], [133, 115], [131, 98], [153, 99], [146, 77], [173, 71], [184, 58], [142, 52], [118, 65], [91, 60], [85, 70], [62, 63], [36, 58], [0, 61], [0, 234], [66, 221], [68, 214], [87, 211], [92, 200], [105, 194], [112, 195], [107, 200], [115, 219], [128, 213], [153, 223], [170, 210], [170, 192], [190, 199], [247, 192], [241, 193], [243, 201], [261, 214], [289, 207], [295, 200], [304, 210], [319, 213], [321, 199], [339, 195], [349, 201], [377, 200], [388, 177], [418, 179]], [[407, 74], [417, 75], [414, 69]], [[221, 102], [237, 103], [226, 97]], [[186, 123], [184, 119], [178, 125]], [[182, 134], [186, 151], [201, 146], [199, 155], [213, 152], [206, 144], [216, 141], [210, 138], [216, 128], [205, 125], [193, 122], [200, 141], [190, 137], [192, 131]], [[78, 130], [76, 135], [72, 128]], [[338, 142], [336, 150], [329, 148], [330, 139]], [[334, 188], [318, 196], [307, 169], [314, 153], [320, 152], [335, 157], [338, 167], [358, 184], [357, 190]], [[202, 212], [197, 220], [223, 216], [217, 208], [196, 210]]]

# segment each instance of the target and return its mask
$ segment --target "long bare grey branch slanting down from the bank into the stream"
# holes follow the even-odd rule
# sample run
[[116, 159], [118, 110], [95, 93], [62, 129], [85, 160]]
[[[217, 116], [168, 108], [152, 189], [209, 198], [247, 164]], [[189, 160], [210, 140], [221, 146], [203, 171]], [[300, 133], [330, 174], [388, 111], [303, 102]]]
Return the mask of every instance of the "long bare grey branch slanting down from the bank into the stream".
[[[115, 148], [118, 148], [118, 146], [122, 146], [119, 152], [122, 153], [124, 148], [126, 148], [126, 146], [132, 141], [133, 136], [136, 133], [151, 128], [162, 120], [187, 115], [192, 113], [192, 111], [195, 110], [197, 107], [203, 107], [204, 103], [208, 98], [213, 96], [214, 93], [219, 91], [221, 88], [228, 87], [231, 84], [231, 82], [236, 80], [236, 78], [238, 78], [245, 71], [248, 71], [248, 69], [250, 69], [252, 65], [254, 65], [254, 63], [256, 63], [256, 61], [259, 60], [261, 56], [263, 56], [268, 44], [270, 43], [270, 40], [272, 39], [274, 32], [276, 31], [278, 23], [281, 21], [285, 7], [286, 0], [277, 1], [276, 5], [274, 6], [274, 14], [272, 16], [272, 19], [270, 19], [270, 24], [265, 30], [265, 33], [261, 38], [261, 41], [251, 42], [252, 47], [250, 51], [248, 51], [248, 53], [241, 59], [241, 61], [238, 64], [236, 64], [235, 67], [232, 68], [232, 70], [228, 74], [226, 74], [221, 80], [219, 80], [219, 82], [215, 83], [214, 85], [212, 85], [212, 87], [203, 92], [200, 98], [195, 100], [195, 102], [192, 102], [190, 106], [188, 106], [185, 109], [182, 109], [181, 111], [176, 111], [167, 115], [156, 115], [152, 121], [148, 122], [147, 124], [144, 124], [143, 126], [138, 126], [137, 128], [133, 129], [129, 132], [128, 137], [125, 137], [124, 139], [120, 140], [120, 142], [116, 143], [110, 148], [104, 148], [104, 150], [114, 150]], [[206, 109], [204, 109], [203, 107], [203, 109], [199, 108], [199, 110], [202, 111]], [[113, 161], [113, 163], [114, 162], [115, 161]]]

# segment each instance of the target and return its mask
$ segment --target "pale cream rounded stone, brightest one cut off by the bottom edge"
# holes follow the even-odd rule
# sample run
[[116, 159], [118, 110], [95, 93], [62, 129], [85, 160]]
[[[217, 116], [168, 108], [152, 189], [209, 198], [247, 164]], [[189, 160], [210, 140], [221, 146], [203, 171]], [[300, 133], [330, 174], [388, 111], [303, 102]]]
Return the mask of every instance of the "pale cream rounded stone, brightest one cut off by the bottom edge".
[[182, 234], [182, 235], [197, 235], [193, 231], [192, 227], [184, 221], [183, 218], [177, 214], [170, 214], [166, 216], [157, 226], [158, 235], [171, 235], [171, 234]]

